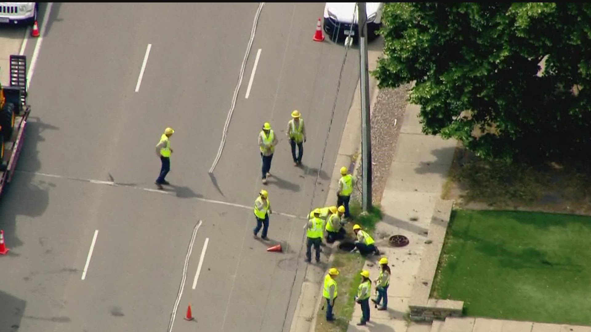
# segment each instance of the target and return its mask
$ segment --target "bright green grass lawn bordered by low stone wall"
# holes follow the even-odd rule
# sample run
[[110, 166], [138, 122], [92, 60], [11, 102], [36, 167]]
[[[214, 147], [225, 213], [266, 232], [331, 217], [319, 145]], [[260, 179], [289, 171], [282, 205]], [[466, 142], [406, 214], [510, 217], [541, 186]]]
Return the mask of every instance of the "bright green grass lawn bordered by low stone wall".
[[591, 325], [591, 217], [455, 210], [432, 292], [470, 316]]

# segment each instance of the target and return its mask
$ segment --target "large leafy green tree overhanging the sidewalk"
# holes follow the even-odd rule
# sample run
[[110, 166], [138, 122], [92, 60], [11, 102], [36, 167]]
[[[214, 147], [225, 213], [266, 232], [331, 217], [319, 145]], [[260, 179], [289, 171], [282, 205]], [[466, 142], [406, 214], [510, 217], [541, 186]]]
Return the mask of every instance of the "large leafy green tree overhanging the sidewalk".
[[489, 159], [589, 155], [591, 4], [389, 3], [382, 22], [373, 74], [415, 81], [425, 134]]

